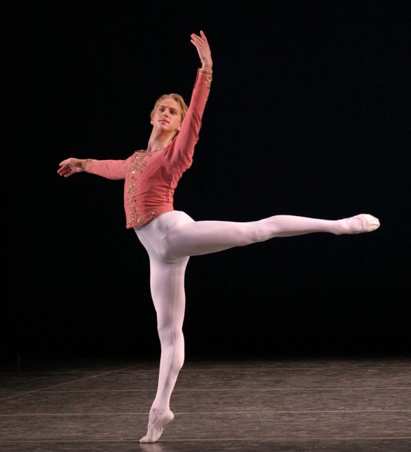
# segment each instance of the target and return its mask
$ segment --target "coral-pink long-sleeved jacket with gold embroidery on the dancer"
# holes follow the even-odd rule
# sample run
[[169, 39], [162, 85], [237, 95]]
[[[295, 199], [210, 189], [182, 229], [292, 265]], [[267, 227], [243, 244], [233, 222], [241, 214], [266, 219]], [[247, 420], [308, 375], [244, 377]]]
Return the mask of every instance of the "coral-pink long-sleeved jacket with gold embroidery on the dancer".
[[212, 76], [197, 71], [187, 114], [179, 134], [163, 149], [136, 150], [125, 160], [89, 160], [86, 171], [124, 183], [126, 228], [142, 226], [162, 213], [172, 211], [174, 191], [190, 168], [199, 140]]

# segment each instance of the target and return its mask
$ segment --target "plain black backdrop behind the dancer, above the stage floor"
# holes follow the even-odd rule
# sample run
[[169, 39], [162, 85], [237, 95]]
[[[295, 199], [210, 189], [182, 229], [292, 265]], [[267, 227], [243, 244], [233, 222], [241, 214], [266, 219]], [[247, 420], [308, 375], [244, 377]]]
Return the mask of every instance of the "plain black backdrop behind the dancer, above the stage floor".
[[123, 183], [56, 171], [67, 157], [145, 148], [155, 99], [190, 99], [200, 29], [214, 80], [175, 209], [234, 221], [372, 213], [382, 226], [191, 258], [186, 357], [408, 354], [409, 18], [405, 1], [3, 7], [2, 359], [158, 358]]

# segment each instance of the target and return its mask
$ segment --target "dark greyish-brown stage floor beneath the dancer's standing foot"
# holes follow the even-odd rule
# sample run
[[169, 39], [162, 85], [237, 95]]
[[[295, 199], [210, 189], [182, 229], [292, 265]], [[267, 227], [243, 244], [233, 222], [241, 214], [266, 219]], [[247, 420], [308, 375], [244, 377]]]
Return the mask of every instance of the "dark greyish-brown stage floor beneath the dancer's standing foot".
[[0, 367], [1, 452], [411, 451], [408, 357], [187, 361], [154, 444], [158, 362], [23, 364]]

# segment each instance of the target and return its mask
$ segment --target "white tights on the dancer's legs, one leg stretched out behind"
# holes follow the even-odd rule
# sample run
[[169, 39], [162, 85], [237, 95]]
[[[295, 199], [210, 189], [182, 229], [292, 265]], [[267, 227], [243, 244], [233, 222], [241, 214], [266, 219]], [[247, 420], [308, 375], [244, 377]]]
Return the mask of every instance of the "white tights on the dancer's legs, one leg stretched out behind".
[[311, 232], [335, 235], [370, 232], [379, 226], [368, 214], [343, 220], [319, 220], [275, 215], [255, 222], [195, 222], [186, 213], [171, 211], [145, 226], [134, 228], [149, 254], [150, 287], [157, 313], [161, 344], [158, 389], [151, 406], [149, 428], [158, 414], [169, 410], [177, 375], [184, 363], [184, 273], [189, 256], [209, 254], [236, 246]]

